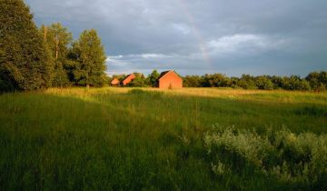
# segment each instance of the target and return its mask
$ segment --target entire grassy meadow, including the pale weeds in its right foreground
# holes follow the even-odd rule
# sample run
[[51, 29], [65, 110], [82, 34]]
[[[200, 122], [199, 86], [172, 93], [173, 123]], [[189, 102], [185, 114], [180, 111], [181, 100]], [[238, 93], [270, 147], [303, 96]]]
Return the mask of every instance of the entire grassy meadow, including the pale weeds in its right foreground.
[[0, 95], [0, 190], [327, 190], [327, 93]]

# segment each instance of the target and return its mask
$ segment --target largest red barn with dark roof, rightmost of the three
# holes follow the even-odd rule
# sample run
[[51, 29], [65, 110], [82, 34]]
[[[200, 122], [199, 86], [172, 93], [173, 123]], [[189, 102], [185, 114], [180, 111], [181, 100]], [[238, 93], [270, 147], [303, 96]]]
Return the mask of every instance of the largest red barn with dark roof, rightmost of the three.
[[173, 72], [165, 71], [159, 76], [159, 88], [182, 88], [183, 79]]

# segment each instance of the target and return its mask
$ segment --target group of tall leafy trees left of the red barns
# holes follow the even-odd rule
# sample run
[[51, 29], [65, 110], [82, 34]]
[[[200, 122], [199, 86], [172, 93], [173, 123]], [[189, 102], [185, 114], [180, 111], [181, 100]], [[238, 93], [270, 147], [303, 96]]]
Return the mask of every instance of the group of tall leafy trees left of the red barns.
[[0, 92], [108, 83], [94, 29], [74, 41], [60, 23], [37, 28], [23, 0], [0, 0], [0, 24]]

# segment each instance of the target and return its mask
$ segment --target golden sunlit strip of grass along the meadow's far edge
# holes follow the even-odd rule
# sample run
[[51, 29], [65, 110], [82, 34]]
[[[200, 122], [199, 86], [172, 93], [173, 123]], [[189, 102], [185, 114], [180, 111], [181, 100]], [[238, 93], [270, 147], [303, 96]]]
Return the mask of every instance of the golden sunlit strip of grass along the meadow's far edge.
[[232, 88], [182, 88], [182, 89], [159, 89], [159, 88], [134, 88], [134, 87], [104, 87], [104, 88], [51, 88], [45, 91], [45, 94], [52, 95], [69, 95], [84, 97], [88, 95], [110, 95], [126, 94], [132, 89], [142, 89], [144, 91], [160, 92], [165, 95], [191, 95], [200, 97], [220, 97], [235, 100], [247, 101], [266, 101], [276, 103], [315, 103], [327, 105], [327, 92], [301, 92], [285, 90], [244, 90]]

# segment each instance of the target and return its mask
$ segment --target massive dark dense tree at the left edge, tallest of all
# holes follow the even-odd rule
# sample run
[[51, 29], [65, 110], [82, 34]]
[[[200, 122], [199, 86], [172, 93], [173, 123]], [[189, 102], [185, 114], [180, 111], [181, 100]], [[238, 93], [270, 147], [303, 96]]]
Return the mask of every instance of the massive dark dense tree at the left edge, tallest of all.
[[0, 24], [0, 91], [50, 86], [52, 65], [44, 38], [24, 1], [0, 0]]

